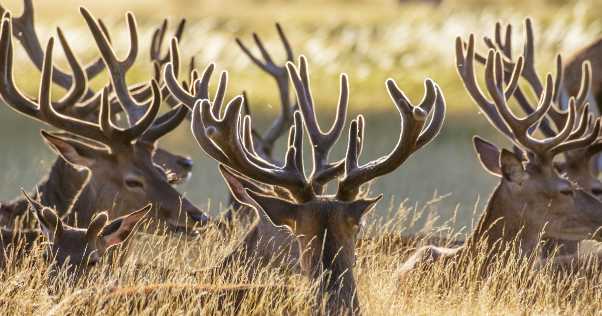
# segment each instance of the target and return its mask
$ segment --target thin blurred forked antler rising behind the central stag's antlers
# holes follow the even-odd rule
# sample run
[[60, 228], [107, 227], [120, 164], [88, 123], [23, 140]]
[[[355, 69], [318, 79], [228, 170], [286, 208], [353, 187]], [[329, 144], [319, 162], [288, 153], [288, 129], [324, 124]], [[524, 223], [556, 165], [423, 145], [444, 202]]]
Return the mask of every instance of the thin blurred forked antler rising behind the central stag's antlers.
[[[288, 43], [287, 37], [284, 35], [284, 31], [282, 31], [282, 27], [279, 23], [276, 23], [276, 29], [278, 29], [278, 35], [282, 40], [282, 45], [287, 53], [287, 61], [293, 61], [293, 51], [291, 46]], [[261, 52], [262, 57], [265, 60], [263, 63], [261, 60], [255, 57], [246, 46], [244, 46], [243, 42], [240, 39], [236, 39], [238, 46], [242, 49], [244, 54], [246, 54], [250, 60], [253, 61], [257, 66], [263, 69], [268, 74], [272, 75], [274, 79], [276, 79], [276, 84], [278, 85], [278, 91], [280, 93], [280, 100], [282, 105], [282, 113], [278, 116], [278, 118], [270, 125], [270, 127], [265, 131], [263, 137], [259, 137], [259, 141], [261, 141], [261, 149], [267, 156], [272, 156], [272, 151], [274, 147], [274, 143], [276, 140], [281, 137], [287, 131], [288, 126], [293, 123], [293, 107], [291, 107], [291, 101], [289, 96], [289, 85], [288, 85], [288, 72], [286, 65], [278, 66], [276, 65], [270, 54], [265, 49], [264, 45], [261, 43], [261, 39], [256, 33], [253, 33], [253, 39], [255, 40], [256, 45]]]

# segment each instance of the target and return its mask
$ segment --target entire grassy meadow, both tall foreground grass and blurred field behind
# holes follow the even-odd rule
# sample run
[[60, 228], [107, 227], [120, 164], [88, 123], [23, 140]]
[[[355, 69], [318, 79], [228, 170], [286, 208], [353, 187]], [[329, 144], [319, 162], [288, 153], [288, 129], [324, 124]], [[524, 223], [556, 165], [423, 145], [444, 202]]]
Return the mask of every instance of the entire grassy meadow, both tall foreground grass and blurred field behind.
[[[2, 4], [20, 14], [19, 0]], [[146, 81], [150, 76], [146, 54], [152, 31], [164, 17], [170, 29], [185, 17], [187, 26], [180, 48], [184, 61], [194, 55], [197, 68], [214, 61], [217, 69], [228, 70], [226, 99], [244, 89], [253, 111], [253, 123], [262, 131], [278, 114], [278, 96], [273, 79], [252, 64], [236, 43], [240, 37], [252, 44], [252, 32], [259, 34], [276, 60], [284, 60], [275, 22], [281, 23], [294, 54], [305, 54], [309, 60], [312, 93], [318, 108], [318, 119], [325, 126], [334, 117], [338, 99], [338, 76], [346, 72], [350, 78], [348, 122], [362, 113], [367, 119], [364, 152], [366, 162], [386, 155], [399, 135], [399, 117], [385, 90], [385, 79], [397, 84], [417, 104], [423, 96], [423, 81], [432, 78], [442, 88], [447, 101], [447, 117], [441, 134], [419, 150], [389, 175], [371, 185], [373, 196], [385, 194], [376, 209], [367, 216], [362, 235], [443, 234], [464, 240], [471, 231], [498, 178], [482, 169], [476, 159], [471, 137], [479, 134], [498, 146], [509, 142], [495, 132], [476, 105], [468, 97], [456, 74], [454, 42], [456, 36], [477, 39], [492, 35], [495, 20], [515, 25], [518, 51], [522, 22], [531, 16], [535, 22], [537, 60], [540, 72], [553, 71], [554, 55], [568, 57], [602, 35], [602, 5], [599, 0], [560, 1], [468, 1], [443, 0], [430, 4], [397, 4], [391, 0], [354, 1], [37, 1], [37, 29], [45, 43], [60, 25], [74, 51], [87, 63], [98, 56], [78, 5], [85, 5], [107, 22], [118, 55], [125, 55], [127, 35], [124, 14], [131, 10], [140, 30], [140, 54], [128, 73], [129, 83]], [[171, 31], [170, 31], [171, 32]], [[169, 34], [169, 33], [168, 33]], [[17, 45], [18, 46], [18, 45]], [[479, 43], [478, 48], [485, 50]], [[55, 59], [66, 69], [60, 49]], [[257, 50], [254, 50], [257, 52]], [[16, 51], [17, 85], [36, 95], [39, 72], [30, 66], [22, 49]], [[482, 67], [477, 67], [480, 69]], [[477, 78], [482, 79], [482, 72]], [[92, 82], [101, 87], [106, 75]], [[214, 74], [214, 78], [217, 76]], [[214, 79], [212, 87], [215, 87]], [[55, 89], [57, 98], [64, 93]], [[48, 171], [54, 159], [39, 135], [39, 122], [2, 105], [0, 107], [0, 198], [13, 199], [24, 187], [29, 190]], [[346, 144], [340, 141], [333, 157], [341, 157]], [[194, 158], [193, 178], [178, 187], [191, 202], [203, 206], [219, 217], [227, 205], [228, 194], [217, 163], [194, 141], [190, 125], [185, 121], [160, 142], [166, 149]], [[279, 142], [284, 155], [284, 141]], [[306, 146], [308, 147], [308, 146]], [[309, 152], [309, 148], [305, 149]], [[331, 190], [332, 191], [332, 188]], [[26, 264], [2, 274], [0, 281], [0, 315], [55, 314], [64, 315], [214, 315], [217, 302], [199, 307], [199, 297], [185, 293], [184, 298], [165, 291], [157, 296], [137, 297], [146, 306], [132, 300], [105, 303], [111, 286], [134, 286], [157, 282], [203, 283], [211, 279], [217, 284], [238, 282], [247, 267], [233, 267], [229, 278], [191, 276], [194, 269], [211, 267], [220, 262], [244, 235], [239, 227], [226, 239], [215, 229], [193, 243], [178, 242], [158, 235], [140, 235], [132, 245], [135, 254], [120, 270], [108, 272], [107, 279], [98, 276], [87, 282], [61, 288], [49, 294], [45, 268], [39, 252], [31, 253]], [[589, 243], [586, 249], [595, 250]], [[585, 250], [584, 250], [585, 251]], [[508, 265], [497, 268], [486, 280], [476, 280], [470, 273], [457, 282], [448, 283], [448, 271], [439, 266], [431, 273], [417, 273], [402, 285], [391, 276], [407, 258], [403, 253], [371, 255], [370, 247], [360, 249], [355, 271], [358, 295], [365, 315], [597, 315], [602, 309], [600, 279], [579, 277], [554, 280], [549, 274], [533, 273], [525, 267]], [[157, 268], [133, 274], [131, 266], [151, 262]], [[180, 273], [163, 275], [158, 268], [179, 268]], [[524, 275], [525, 273], [529, 275]], [[102, 275], [102, 278], [101, 278]], [[280, 302], [275, 293], [264, 293], [258, 304], [244, 305], [243, 314], [310, 315], [312, 285], [300, 276], [284, 277], [274, 271], [261, 271], [253, 283], [293, 285], [293, 298]], [[91, 290], [92, 286], [93, 290]], [[276, 293], [278, 294], [278, 293]], [[270, 306], [274, 301], [276, 306]], [[134, 303], [132, 303], [134, 302]], [[135, 309], [134, 311], [130, 310]], [[229, 311], [223, 311], [228, 315]]]

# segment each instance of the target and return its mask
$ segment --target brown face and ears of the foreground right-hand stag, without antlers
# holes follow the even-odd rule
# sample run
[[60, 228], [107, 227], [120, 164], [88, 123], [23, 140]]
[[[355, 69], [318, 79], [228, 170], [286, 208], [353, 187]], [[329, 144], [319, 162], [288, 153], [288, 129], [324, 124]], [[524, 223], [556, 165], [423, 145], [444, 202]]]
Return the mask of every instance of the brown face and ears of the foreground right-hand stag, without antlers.
[[507, 150], [481, 138], [474, 147], [488, 172], [502, 178], [509, 208], [523, 210], [520, 220], [533, 234], [563, 240], [602, 240], [602, 203], [560, 176], [551, 160], [523, 163]]

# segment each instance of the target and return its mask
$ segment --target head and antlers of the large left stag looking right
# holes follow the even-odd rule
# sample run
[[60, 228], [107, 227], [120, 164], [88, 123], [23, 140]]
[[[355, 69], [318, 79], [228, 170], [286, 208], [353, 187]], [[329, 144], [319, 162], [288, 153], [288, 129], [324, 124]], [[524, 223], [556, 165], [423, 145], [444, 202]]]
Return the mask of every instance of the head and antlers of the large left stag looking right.
[[[110, 216], [116, 218], [140, 209], [141, 203], [152, 202], [155, 209], [150, 214], [161, 222], [161, 226], [157, 227], [165, 227], [186, 238], [197, 238], [196, 223], [206, 223], [208, 217], [182, 197], [182, 194], [167, 182], [164, 170], [152, 161], [156, 140], [182, 122], [188, 109], [183, 106], [176, 107], [159, 117], [154, 125], [162, 102], [157, 81], [151, 80], [152, 97], [149, 100], [142, 104], [134, 101], [124, 79], [123, 63], [127, 59], [117, 60], [101, 31], [101, 26], [96, 23], [92, 14], [83, 7], [80, 8], [80, 12], [95, 35], [103, 60], [111, 72], [111, 85], [116, 90], [120, 103], [129, 104], [130, 108], [146, 109], [143, 118], [129, 128], [117, 128], [111, 122], [108, 87], [99, 94], [99, 123], [64, 116], [54, 110], [50, 99], [54, 38], [46, 45], [39, 99], [34, 101], [24, 96], [13, 79], [13, 42], [9, 12], [4, 15], [0, 34], [0, 75], [3, 81], [0, 96], [5, 103], [22, 114], [99, 144], [88, 146], [42, 131], [48, 146], [67, 163], [88, 170], [88, 179], [76, 194], [76, 200], [69, 210], [59, 210], [60, 215], [66, 216], [66, 223], [69, 225], [86, 226], [95, 212], [108, 210]], [[127, 19], [131, 31], [131, 51], [135, 51], [137, 35], [133, 14], [128, 13]]]

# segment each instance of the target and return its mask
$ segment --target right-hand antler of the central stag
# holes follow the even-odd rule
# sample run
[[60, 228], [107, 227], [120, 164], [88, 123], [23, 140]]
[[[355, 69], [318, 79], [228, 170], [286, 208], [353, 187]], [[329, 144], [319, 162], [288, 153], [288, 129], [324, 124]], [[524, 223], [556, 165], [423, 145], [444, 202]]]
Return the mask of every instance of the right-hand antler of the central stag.
[[[389, 155], [371, 161], [364, 166], [359, 166], [358, 157], [361, 138], [358, 136], [364, 134], [363, 117], [358, 116], [357, 120], [351, 122], [345, 160], [345, 175], [340, 179], [337, 190], [337, 197], [341, 200], [355, 200], [362, 184], [393, 172], [412, 153], [433, 140], [441, 130], [445, 117], [445, 99], [441, 89], [433, 81], [430, 79], [424, 81], [426, 91], [418, 107], [414, 107], [410, 103], [393, 79], [387, 79], [386, 88], [402, 118], [399, 141], [397, 141], [396, 147]], [[424, 123], [431, 110], [433, 111], [432, 119], [427, 128], [423, 130]]]

